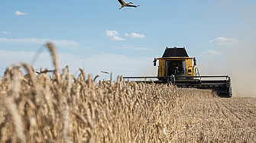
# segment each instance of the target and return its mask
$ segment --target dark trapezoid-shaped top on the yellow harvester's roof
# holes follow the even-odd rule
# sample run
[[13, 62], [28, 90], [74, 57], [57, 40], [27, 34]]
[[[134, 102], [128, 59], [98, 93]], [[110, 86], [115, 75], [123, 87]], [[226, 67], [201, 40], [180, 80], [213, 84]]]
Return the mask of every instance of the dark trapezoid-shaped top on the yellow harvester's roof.
[[162, 58], [164, 57], [189, 57], [189, 55], [187, 54], [185, 47], [177, 48], [174, 46], [174, 48], [167, 47], [165, 49]]

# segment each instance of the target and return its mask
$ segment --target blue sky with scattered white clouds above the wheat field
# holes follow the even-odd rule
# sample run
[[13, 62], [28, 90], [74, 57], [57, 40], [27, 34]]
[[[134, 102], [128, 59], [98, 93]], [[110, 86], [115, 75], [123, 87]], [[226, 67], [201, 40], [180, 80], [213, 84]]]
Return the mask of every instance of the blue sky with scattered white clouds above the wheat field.
[[[128, 2], [128, 1], [126, 1]], [[165, 47], [186, 47], [201, 75], [231, 75], [235, 87], [255, 85], [256, 2], [253, 0], [0, 1], [0, 73], [31, 62], [47, 41], [61, 67], [86, 74], [156, 75], [154, 57]], [[34, 67], [53, 68], [47, 49]], [[245, 71], [245, 78], [238, 78]], [[253, 87], [251, 87], [253, 88]], [[250, 88], [250, 89], [251, 89]], [[248, 91], [247, 86], [243, 86]]]

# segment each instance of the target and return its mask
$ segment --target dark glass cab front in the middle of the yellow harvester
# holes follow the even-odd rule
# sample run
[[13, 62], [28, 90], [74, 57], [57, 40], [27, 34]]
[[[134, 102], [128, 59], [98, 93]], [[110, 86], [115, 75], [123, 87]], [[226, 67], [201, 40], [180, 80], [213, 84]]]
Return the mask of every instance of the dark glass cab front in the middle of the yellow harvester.
[[185, 61], [183, 60], [167, 60], [165, 62], [165, 76], [184, 76]]

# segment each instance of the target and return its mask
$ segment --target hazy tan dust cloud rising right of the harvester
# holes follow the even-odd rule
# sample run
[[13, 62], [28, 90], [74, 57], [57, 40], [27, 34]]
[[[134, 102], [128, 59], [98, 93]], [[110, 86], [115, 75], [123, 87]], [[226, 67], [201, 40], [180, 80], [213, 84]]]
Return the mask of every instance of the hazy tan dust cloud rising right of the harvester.
[[[234, 97], [256, 97], [256, 2], [239, 13], [219, 37], [233, 38], [233, 46], [209, 43], [218, 56], [203, 57], [199, 69], [207, 75], [229, 75]], [[217, 38], [217, 37], [214, 37]]]

